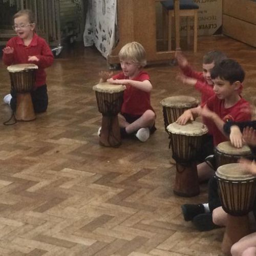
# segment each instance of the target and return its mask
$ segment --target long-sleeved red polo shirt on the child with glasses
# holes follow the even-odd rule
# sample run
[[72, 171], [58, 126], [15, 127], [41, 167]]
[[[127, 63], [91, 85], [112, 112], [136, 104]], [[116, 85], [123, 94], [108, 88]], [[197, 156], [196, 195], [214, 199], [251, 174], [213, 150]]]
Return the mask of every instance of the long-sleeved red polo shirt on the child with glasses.
[[[7, 45], [14, 49], [13, 54], [3, 54], [5, 65], [33, 63], [38, 66], [35, 78], [35, 87], [40, 87], [46, 83], [45, 68], [53, 63], [53, 54], [45, 39], [34, 34], [29, 46], [24, 45], [23, 39], [15, 36], [11, 38]], [[29, 56], [36, 56], [39, 61], [28, 61]]]

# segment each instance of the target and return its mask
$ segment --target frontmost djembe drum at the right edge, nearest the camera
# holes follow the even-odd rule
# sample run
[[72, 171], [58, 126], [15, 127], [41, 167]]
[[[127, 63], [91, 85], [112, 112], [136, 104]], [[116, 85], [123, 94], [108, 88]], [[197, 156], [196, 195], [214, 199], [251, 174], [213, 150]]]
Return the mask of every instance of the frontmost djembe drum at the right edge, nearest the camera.
[[249, 234], [248, 213], [253, 209], [256, 177], [246, 174], [243, 164], [230, 163], [216, 171], [222, 208], [227, 212], [227, 225], [222, 251], [230, 255], [231, 246]]

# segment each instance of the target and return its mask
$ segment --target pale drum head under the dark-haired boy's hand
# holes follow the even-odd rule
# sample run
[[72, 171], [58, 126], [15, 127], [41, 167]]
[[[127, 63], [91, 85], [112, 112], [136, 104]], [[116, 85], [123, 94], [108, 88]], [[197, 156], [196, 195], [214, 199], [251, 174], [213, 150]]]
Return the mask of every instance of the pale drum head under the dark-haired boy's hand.
[[201, 136], [208, 133], [206, 125], [196, 121], [188, 122], [185, 125], [174, 122], [169, 124], [166, 129], [170, 133], [186, 136]]

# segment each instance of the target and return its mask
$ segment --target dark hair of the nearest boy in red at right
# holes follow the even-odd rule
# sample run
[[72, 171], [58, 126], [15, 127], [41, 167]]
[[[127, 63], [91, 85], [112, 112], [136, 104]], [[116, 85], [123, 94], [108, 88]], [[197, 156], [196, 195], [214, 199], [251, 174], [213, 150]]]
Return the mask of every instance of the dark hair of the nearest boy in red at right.
[[233, 59], [224, 59], [210, 72], [211, 79], [220, 77], [223, 80], [227, 80], [230, 84], [240, 81], [243, 82], [245, 72], [240, 64]]

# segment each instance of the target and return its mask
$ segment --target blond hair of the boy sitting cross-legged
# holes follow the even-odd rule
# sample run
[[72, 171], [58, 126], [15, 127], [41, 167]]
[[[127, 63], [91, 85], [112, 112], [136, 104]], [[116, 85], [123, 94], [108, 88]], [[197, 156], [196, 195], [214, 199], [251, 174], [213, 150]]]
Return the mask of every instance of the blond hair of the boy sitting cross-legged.
[[139, 42], [129, 42], [123, 46], [118, 56], [120, 60], [129, 59], [134, 63], [139, 63], [141, 67], [146, 66], [146, 52]]

